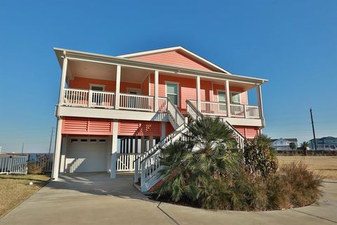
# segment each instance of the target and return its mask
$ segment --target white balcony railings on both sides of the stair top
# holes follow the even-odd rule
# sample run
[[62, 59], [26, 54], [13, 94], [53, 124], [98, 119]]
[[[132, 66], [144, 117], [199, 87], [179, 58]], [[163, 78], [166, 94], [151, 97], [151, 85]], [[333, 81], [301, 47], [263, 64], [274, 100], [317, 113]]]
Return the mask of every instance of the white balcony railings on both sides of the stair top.
[[[197, 108], [197, 100], [189, 99]], [[115, 109], [116, 97], [112, 91], [93, 91], [85, 89], [64, 89], [62, 104], [64, 106]], [[154, 96], [141, 94], [119, 94], [119, 110], [136, 110], [153, 112]], [[166, 113], [167, 97], [158, 98], [157, 113]], [[227, 103], [201, 101], [203, 115], [228, 117]], [[183, 112], [184, 114], [185, 112]], [[256, 105], [230, 104], [230, 117], [259, 119], [260, 110]]]

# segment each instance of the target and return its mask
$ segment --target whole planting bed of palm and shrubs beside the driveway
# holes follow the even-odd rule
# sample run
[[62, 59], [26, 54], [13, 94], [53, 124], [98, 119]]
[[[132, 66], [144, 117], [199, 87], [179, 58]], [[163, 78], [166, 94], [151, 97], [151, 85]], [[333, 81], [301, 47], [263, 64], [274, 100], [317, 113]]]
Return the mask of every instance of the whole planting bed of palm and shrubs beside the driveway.
[[163, 184], [157, 200], [214, 210], [280, 210], [314, 203], [322, 179], [305, 165], [277, 170], [267, 136], [234, 148], [232, 131], [218, 119], [190, 124], [188, 141], [161, 150]]

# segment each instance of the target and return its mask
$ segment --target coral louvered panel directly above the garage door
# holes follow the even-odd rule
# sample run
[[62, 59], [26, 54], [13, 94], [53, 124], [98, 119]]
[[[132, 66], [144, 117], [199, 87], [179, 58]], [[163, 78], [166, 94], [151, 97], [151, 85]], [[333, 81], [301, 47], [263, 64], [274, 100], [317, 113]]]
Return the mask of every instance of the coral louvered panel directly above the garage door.
[[111, 135], [112, 120], [65, 117], [61, 132], [62, 134]]

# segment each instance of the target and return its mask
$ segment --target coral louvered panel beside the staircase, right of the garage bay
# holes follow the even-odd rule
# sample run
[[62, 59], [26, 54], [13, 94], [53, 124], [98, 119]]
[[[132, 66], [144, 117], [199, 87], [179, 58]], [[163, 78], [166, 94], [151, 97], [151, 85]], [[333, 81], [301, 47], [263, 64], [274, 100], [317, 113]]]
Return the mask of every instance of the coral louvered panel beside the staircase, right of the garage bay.
[[128, 136], [160, 136], [161, 122], [119, 120], [118, 134]]

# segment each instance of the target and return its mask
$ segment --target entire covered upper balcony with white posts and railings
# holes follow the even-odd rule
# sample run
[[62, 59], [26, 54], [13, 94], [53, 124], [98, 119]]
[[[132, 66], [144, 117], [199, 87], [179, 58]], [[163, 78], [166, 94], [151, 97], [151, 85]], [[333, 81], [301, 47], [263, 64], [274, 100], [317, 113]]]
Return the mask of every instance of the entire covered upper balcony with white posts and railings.
[[[62, 65], [58, 116], [162, 120], [169, 98], [183, 114], [190, 101], [203, 115], [224, 117], [233, 125], [264, 126], [260, 89], [264, 79], [56, 52]], [[256, 89], [258, 105], [249, 105], [251, 89]]]

